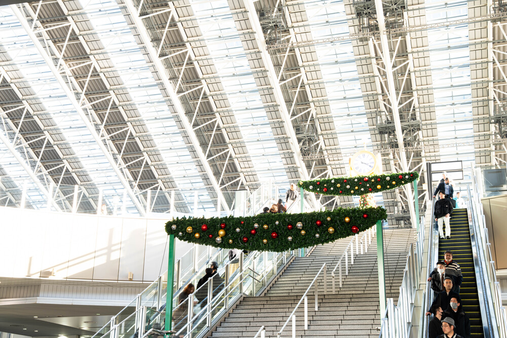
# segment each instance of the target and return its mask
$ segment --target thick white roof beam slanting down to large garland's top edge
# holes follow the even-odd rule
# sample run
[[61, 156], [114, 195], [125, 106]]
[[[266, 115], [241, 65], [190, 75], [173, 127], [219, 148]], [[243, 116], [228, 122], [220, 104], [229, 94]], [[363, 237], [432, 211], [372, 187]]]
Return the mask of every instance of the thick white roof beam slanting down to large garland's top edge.
[[208, 176], [208, 179], [211, 182], [211, 185], [213, 186], [213, 189], [215, 190], [216, 195], [218, 196], [218, 200], [221, 201], [222, 207], [227, 213], [231, 212], [231, 209], [227, 205], [227, 201], [222, 193], [222, 190], [220, 189], [219, 182], [216, 180], [216, 177], [213, 174], [213, 170], [211, 169], [211, 166], [209, 165], [208, 161], [206, 160], [206, 155], [204, 154], [201, 145], [199, 143], [199, 140], [197, 138], [197, 135], [195, 134], [195, 131], [192, 128], [192, 125], [189, 122], [189, 119], [185, 115], [185, 108], [183, 107], [183, 104], [178, 99], [178, 95], [174, 89], [173, 84], [169, 80], [169, 74], [167, 73], [167, 70], [162, 63], [162, 60], [159, 57], [158, 51], [155, 48], [155, 46], [151, 42], [150, 35], [148, 34], [148, 30], [144, 26], [142, 19], [138, 15], [138, 11], [135, 8], [134, 4], [132, 3], [132, 0], [125, 0], [125, 5], [127, 6], [127, 10], [130, 14], [130, 17], [132, 19], [132, 22], [134, 26], [136, 27], [137, 32], [139, 33], [140, 40], [144, 44], [144, 48], [146, 48], [146, 51], [148, 52], [150, 58], [153, 61], [154, 67], [157, 70], [157, 72], [160, 74], [160, 78], [162, 80], [162, 83], [164, 84], [164, 87], [169, 94], [169, 97], [172, 101], [172, 104], [174, 105], [174, 108], [176, 110], [176, 114], [178, 115], [179, 119], [182, 121], [182, 124], [185, 128], [185, 131], [187, 132], [192, 145], [194, 146], [194, 150], [204, 168], [204, 171], [206, 172], [206, 175]]

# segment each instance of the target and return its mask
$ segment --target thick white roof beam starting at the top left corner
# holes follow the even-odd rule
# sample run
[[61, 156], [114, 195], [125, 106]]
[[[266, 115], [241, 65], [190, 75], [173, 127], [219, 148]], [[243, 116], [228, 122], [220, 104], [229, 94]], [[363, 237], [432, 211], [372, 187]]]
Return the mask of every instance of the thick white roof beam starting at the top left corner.
[[53, 76], [55, 77], [56, 81], [58, 81], [58, 84], [60, 85], [62, 90], [65, 92], [65, 95], [70, 100], [70, 102], [73, 104], [73, 106], [76, 109], [76, 112], [80, 116], [81, 120], [83, 121], [83, 123], [87, 127], [88, 131], [92, 135], [95, 142], [97, 142], [104, 157], [111, 164], [113, 170], [115, 171], [116, 175], [118, 176], [120, 182], [123, 184], [125, 190], [127, 191], [127, 194], [129, 195], [130, 199], [134, 203], [139, 214], [141, 216], [144, 216], [145, 210], [144, 210], [144, 207], [142, 206], [142, 203], [140, 202], [137, 195], [132, 190], [129, 181], [125, 178], [125, 176], [123, 175], [121, 170], [116, 165], [116, 161], [115, 161], [113, 155], [108, 151], [107, 147], [104, 145], [104, 143], [100, 139], [100, 136], [98, 135], [94, 125], [88, 119], [86, 112], [84, 111], [83, 107], [79, 104], [78, 100], [76, 99], [76, 93], [74, 91], [70, 90], [70, 88], [68, 87], [69, 84], [67, 84], [65, 82], [60, 71], [58, 71], [58, 69], [56, 69], [56, 66], [53, 63], [52, 57], [48, 54], [45, 47], [42, 45], [37, 34], [35, 34], [35, 32], [30, 28], [22, 11], [16, 5], [11, 5], [10, 8], [14, 12], [14, 14], [16, 15], [19, 22], [21, 23], [21, 26], [23, 27], [23, 29], [26, 31], [26, 33], [30, 37], [30, 40], [32, 41], [35, 48], [37, 48], [37, 50], [39, 51], [39, 53], [43, 57], [44, 61], [46, 62], [46, 64], [51, 69], [51, 72], [53, 73]]

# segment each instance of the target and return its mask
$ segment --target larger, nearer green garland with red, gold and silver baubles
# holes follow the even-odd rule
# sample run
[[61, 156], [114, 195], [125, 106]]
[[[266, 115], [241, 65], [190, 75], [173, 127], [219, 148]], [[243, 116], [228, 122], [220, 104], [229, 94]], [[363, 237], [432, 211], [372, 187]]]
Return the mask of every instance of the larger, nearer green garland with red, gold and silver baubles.
[[[377, 220], [386, 218], [387, 213], [382, 207], [338, 208], [334, 211], [250, 217], [183, 217], [168, 221], [165, 230], [167, 234], [186, 242], [227, 249], [280, 252], [332, 242], [353, 235], [354, 231], [365, 231]], [[222, 237], [219, 236], [221, 230], [225, 232]], [[197, 238], [196, 234], [199, 234]]]

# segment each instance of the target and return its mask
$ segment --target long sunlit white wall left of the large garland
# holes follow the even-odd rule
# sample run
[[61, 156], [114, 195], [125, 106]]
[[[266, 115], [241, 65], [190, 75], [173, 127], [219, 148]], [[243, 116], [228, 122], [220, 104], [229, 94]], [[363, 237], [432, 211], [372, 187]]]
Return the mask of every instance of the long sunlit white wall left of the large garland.
[[[0, 207], [0, 277], [151, 282], [167, 270], [167, 220]], [[176, 258], [191, 244], [176, 239]]]

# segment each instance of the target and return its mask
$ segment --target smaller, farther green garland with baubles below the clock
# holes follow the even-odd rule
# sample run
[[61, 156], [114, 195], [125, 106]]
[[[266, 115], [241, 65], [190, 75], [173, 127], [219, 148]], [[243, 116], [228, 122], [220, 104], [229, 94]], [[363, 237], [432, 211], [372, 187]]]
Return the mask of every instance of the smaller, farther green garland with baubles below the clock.
[[383, 175], [333, 177], [299, 181], [299, 186], [308, 192], [321, 195], [360, 196], [391, 190], [397, 186], [413, 182], [418, 178], [419, 174], [411, 171]]

